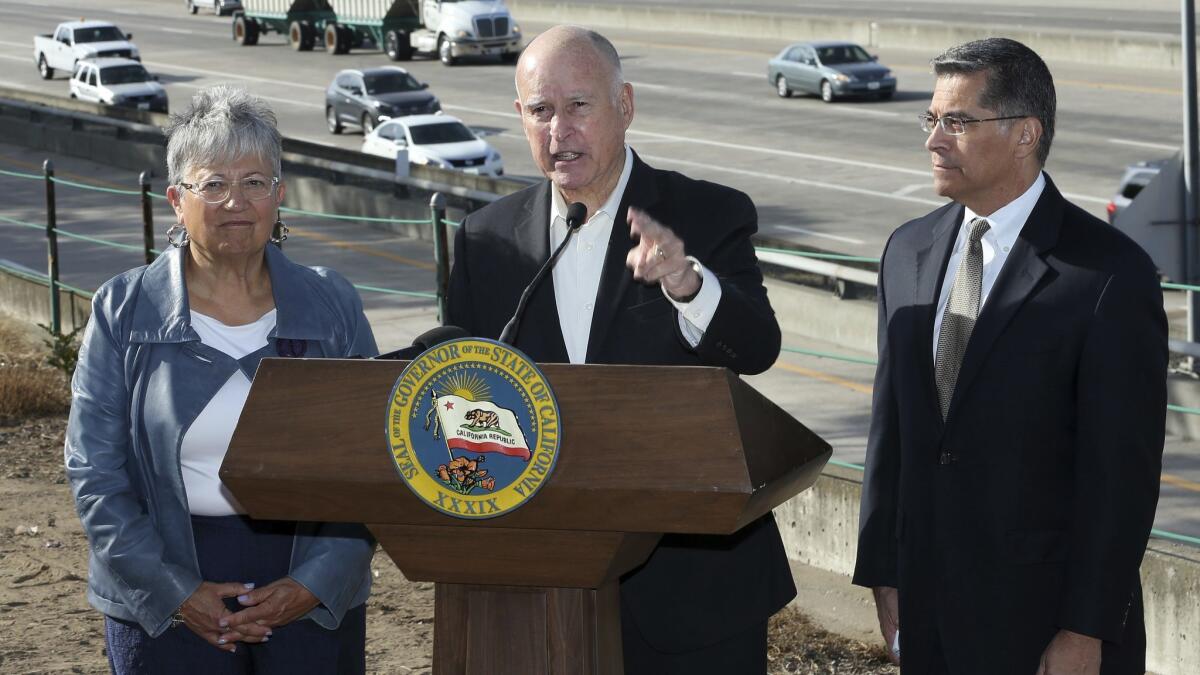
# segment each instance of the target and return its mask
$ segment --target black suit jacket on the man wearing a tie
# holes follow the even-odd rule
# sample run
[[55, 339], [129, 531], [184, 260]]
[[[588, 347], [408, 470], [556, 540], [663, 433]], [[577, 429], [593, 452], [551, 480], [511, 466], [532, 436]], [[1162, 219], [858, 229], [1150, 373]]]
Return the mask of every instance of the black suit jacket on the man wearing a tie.
[[900, 590], [901, 663], [1034, 673], [1060, 628], [1145, 670], [1139, 566], [1166, 405], [1156, 269], [1046, 179], [942, 422], [932, 330], [962, 207], [900, 227], [880, 269], [854, 583]]

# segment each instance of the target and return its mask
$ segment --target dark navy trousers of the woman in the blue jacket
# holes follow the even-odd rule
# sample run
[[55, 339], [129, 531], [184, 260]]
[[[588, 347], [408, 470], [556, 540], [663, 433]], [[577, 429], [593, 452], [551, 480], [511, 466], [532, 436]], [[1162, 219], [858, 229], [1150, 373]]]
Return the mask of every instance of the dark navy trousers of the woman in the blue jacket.
[[[242, 516], [192, 516], [200, 577], [265, 586], [288, 573], [295, 524]], [[228, 598], [229, 609], [241, 607]], [[221, 651], [186, 626], [151, 638], [134, 622], [104, 617], [108, 665], [115, 675], [361, 674], [366, 671], [366, 607], [346, 613], [336, 631], [307, 619], [271, 629], [262, 644]]]

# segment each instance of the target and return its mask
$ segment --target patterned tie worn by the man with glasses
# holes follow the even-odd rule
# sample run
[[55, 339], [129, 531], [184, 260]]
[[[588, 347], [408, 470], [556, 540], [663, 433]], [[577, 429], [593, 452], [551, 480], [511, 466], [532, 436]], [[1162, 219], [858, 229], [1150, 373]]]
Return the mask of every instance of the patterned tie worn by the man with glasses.
[[967, 250], [959, 261], [959, 271], [950, 287], [950, 299], [942, 315], [942, 330], [937, 338], [934, 359], [934, 378], [937, 382], [937, 401], [942, 419], [950, 412], [954, 384], [959, 380], [962, 356], [967, 351], [971, 331], [979, 317], [979, 294], [983, 291], [983, 244], [980, 240], [991, 225], [985, 219], [971, 221], [967, 232]]

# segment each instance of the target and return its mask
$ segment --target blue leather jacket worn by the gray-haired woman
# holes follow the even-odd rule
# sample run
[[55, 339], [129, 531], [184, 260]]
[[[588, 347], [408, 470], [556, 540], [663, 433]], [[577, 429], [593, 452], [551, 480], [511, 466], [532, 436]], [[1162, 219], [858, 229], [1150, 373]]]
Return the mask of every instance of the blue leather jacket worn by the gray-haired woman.
[[[234, 360], [200, 342], [184, 283], [185, 250], [106, 282], [92, 298], [71, 389], [66, 473], [91, 544], [88, 599], [160, 635], [199, 587], [179, 448], [236, 369], [281, 354], [372, 357], [374, 336], [354, 287], [266, 246], [276, 327]], [[300, 522], [289, 577], [320, 601], [308, 619], [336, 628], [371, 591], [374, 542], [355, 524]], [[208, 579], [227, 581], [228, 579]]]

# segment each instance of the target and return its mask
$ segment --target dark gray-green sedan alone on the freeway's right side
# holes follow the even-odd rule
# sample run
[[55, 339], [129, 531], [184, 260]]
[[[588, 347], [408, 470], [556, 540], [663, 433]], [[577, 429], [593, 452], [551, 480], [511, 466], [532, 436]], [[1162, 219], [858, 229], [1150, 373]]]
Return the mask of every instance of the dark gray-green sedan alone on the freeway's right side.
[[817, 94], [826, 103], [844, 96], [890, 98], [896, 78], [853, 42], [797, 42], [767, 61], [767, 80], [781, 97]]

